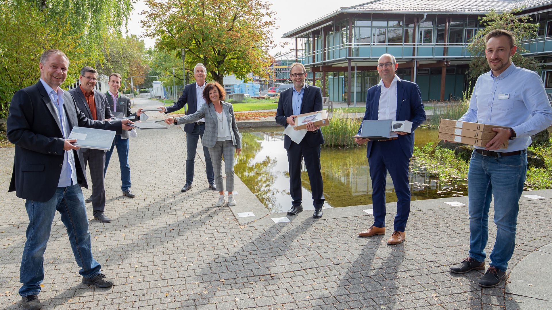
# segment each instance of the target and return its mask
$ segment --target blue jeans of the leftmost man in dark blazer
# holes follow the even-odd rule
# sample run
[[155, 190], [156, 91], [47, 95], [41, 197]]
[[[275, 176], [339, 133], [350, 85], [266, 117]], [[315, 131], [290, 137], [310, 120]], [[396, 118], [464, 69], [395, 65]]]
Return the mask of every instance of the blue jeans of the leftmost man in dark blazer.
[[25, 248], [21, 260], [19, 281], [20, 296], [38, 295], [44, 280], [44, 251], [50, 238], [52, 221], [56, 210], [67, 228], [67, 235], [73, 249], [78, 271], [84, 277], [95, 277], [100, 273], [100, 264], [93, 258], [88, 232], [88, 216], [84, 207], [84, 197], [78, 184], [57, 188], [54, 197], [46, 202], [26, 200], [25, 209], [29, 216]]

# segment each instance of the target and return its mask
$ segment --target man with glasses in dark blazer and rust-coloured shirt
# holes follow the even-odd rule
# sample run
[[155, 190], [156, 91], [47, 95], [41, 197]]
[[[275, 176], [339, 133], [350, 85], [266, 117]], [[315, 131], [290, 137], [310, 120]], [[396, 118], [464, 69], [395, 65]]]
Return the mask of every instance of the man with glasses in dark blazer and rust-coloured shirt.
[[[81, 82], [78, 87], [70, 89], [68, 92], [75, 98], [77, 108], [81, 110], [87, 119], [105, 120], [111, 118], [111, 110], [103, 93], [94, 89], [98, 78], [98, 72], [92, 67], [83, 67], [81, 69]], [[105, 189], [104, 189], [104, 166], [105, 151], [103, 149], [83, 148], [82, 156], [84, 159], [84, 169], [90, 167], [90, 178], [92, 179], [92, 195], [86, 199], [86, 202], [92, 202], [94, 220], [102, 223], [111, 222], [110, 218], [105, 216]]]

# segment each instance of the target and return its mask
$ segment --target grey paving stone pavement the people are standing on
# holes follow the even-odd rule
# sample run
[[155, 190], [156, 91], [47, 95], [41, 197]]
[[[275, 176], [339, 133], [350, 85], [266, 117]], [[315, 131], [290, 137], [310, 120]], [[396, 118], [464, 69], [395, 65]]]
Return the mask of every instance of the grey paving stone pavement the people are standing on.
[[[136, 106], [155, 105], [140, 101]], [[160, 117], [150, 113], [151, 117]], [[111, 223], [91, 220], [92, 248], [110, 288], [81, 283], [67, 233], [56, 216], [44, 256], [39, 295], [44, 309], [514, 309], [516, 295], [477, 285], [483, 272], [451, 274], [469, 248], [465, 206], [412, 211], [406, 242], [359, 238], [368, 214], [240, 225], [207, 188], [196, 159], [194, 186], [184, 184], [185, 135], [180, 126], [140, 131], [130, 141], [134, 199], [120, 191], [116, 156], [105, 181]], [[0, 149], [0, 304], [20, 307], [19, 264], [27, 223], [24, 201], [7, 193], [13, 148]], [[83, 189], [84, 196], [91, 189]], [[552, 193], [552, 192], [548, 192]], [[523, 200], [518, 261], [552, 242], [552, 195]], [[238, 200], [238, 203], [243, 203]], [[325, 212], [339, 212], [328, 209]], [[303, 212], [305, 213], [305, 212]], [[282, 215], [285, 216], [285, 215]], [[490, 215], [492, 218], [492, 214]], [[386, 225], [392, 227], [392, 216]], [[490, 223], [487, 253], [494, 242]], [[537, 266], [535, 266], [537, 267]], [[507, 284], [506, 284], [507, 286]]]

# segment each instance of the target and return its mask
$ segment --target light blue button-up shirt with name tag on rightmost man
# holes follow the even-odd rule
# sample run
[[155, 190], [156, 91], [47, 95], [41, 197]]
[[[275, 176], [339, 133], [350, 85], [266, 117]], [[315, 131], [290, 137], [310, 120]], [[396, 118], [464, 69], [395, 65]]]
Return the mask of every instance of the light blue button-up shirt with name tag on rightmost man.
[[477, 78], [468, 111], [459, 121], [512, 127], [517, 137], [497, 151], [520, 151], [531, 144], [531, 135], [552, 124], [552, 107], [539, 75], [511, 62], [497, 77], [491, 70]]

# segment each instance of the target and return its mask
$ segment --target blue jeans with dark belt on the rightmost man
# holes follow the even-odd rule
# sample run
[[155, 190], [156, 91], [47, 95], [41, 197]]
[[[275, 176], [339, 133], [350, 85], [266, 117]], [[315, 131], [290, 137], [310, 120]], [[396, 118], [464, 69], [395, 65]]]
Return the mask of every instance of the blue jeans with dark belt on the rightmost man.
[[495, 204], [497, 227], [495, 246], [489, 258], [491, 266], [506, 271], [516, 243], [519, 198], [527, 175], [527, 152], [512, 156], [471, 154], [468, 171], [468, 212], [470, 215], [470, 257], [486, 258], [489, 237], [489, 207], [491, 196]]

